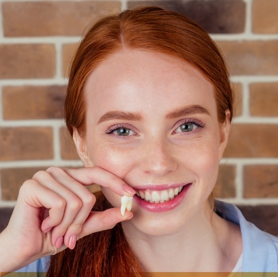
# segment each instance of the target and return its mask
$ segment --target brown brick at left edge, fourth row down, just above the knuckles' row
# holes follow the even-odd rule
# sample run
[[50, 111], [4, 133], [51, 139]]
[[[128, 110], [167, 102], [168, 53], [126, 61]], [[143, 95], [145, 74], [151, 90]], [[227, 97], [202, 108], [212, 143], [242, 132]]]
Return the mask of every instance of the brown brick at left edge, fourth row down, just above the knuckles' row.
[[0, 128], [0, 161], [52, 159], [50, 127]]

